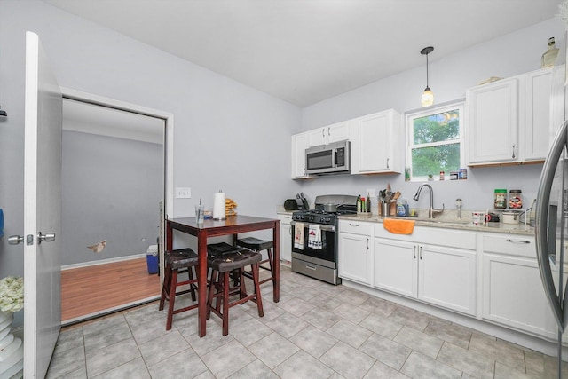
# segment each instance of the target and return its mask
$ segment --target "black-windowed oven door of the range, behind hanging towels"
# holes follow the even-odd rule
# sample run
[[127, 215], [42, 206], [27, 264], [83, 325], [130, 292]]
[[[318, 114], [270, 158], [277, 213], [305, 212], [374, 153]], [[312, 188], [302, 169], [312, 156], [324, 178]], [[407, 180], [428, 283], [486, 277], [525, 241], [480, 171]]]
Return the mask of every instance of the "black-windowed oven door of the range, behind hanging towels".
[[[292, 221], [291, 223], [294, 231], [296, 230], [296, 224], [296, 221]], [[304, 241], [301, 244], [302, 249], [296, 245], [296, 233], [292, 233], [292, 258], [297, 257], [314, 263], [319, 262], [321, 265], [335, 268], [335, 246], [337, 243], [335, 225], [319, 225], [319, 231], [319, 233], [321, 233], [321, 249], [314, 249], [310, 246], [310, 224], [304, 224]]]

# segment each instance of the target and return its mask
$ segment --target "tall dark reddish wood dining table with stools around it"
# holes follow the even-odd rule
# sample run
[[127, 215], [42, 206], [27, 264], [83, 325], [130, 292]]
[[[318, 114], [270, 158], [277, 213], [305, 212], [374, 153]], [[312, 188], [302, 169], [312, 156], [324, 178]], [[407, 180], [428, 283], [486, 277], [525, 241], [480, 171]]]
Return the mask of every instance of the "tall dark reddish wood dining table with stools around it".
[[173, 249], [173, 231], [177, 230], [197, 237], [197, 254], [199, 255], [199, 281], [198, 281], [198, 333], [206, 334], [207, 321], [207, 239], [222, 235], [233, 235], [233, 244], [236, 244], [238, 233], [256, 232], [272, 229], [272, 242], [274, 244], [274, 302], [280, 301], [280, 220], [273, 218], [253, 216], [231, 216], [224, 220], [206, 219], [197, 224], [195, 217], [170, 218], [167, 220], [166, 249]]

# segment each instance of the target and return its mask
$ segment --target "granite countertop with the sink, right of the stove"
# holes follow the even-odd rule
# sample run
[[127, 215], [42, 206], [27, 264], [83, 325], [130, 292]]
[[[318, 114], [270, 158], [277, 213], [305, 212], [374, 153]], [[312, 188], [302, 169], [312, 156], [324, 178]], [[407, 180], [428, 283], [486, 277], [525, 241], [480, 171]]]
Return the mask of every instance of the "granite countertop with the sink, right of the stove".
[[[378, 216], [375, 214], [360, 214], [360, 215], [343, 215], [340, 216], [340, 220], [355, 220], [355, 221], [368, 221], [373, 223], [383, 223], [385, 217]], [[445, 229], [458, 229], [458, 230], [469, 230], [473, 232], [490, 232], [490, 233], [509, 233], [509, 234], [521, 234], [521, 235], [534, 235], [534, 227], [530, 225], [525, 225], [525, 223], [519, 224], [503, 224], [503, 223], [485, 223], [485, 225], [473, 225], [471, 220], [463, 218], [458, 220], [456, 218], [434, 218], [433, 220], [428, 220], [424, 217], [388, 217], [396, 219], [414, 220], [416, 226], [428, 226], [436, 228]]]

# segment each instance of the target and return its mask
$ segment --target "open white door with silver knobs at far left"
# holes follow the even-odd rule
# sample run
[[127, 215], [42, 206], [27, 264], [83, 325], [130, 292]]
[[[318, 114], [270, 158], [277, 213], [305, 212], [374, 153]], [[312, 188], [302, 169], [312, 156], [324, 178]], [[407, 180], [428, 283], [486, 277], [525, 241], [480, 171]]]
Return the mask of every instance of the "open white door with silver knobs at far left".
[[43, 378], [61, 323], [62, 98], [31, 32], [26, 33], [25, 101], [24, 377]]

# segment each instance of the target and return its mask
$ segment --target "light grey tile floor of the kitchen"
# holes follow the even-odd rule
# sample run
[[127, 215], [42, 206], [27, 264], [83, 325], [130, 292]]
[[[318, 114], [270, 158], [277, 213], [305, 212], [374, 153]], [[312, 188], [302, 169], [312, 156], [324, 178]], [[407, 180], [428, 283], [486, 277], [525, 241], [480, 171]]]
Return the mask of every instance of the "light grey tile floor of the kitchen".
[[157, 303], [64, 328], [47, 377], [556, 377], [539, 352], [288, 268], [281, 277], [280, 303], [265, 283], [264, 317], [250, 302], [232, 308], [225, 337], [212, 315], [199, 338], [196, 311], [167, 332]]

